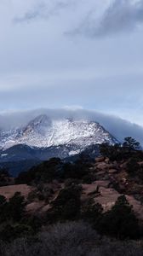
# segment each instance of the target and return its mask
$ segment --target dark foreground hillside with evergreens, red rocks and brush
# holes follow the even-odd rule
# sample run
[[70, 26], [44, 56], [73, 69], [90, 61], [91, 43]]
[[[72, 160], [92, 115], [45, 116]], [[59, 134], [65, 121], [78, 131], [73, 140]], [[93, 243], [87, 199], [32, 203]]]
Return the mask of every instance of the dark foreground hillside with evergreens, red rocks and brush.
[[0, 172], [0, 255], [143, 255], [143, 152], [126, 138], [94, 160]]

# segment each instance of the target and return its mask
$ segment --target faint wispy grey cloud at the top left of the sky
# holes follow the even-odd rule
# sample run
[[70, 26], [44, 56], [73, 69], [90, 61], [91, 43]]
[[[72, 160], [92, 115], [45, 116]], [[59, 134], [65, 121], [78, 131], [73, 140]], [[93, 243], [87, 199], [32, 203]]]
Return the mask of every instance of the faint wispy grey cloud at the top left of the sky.
[[24, 15], [15, 17], [14, 22], [31, 22], [33, 20], [43, 19], [47, 20], [50, 16], [57, 15], [62, 9], [66, 9], [75, 3], [75, 0], [53, 0], [41, 1], [40, 3], [32, 6]]

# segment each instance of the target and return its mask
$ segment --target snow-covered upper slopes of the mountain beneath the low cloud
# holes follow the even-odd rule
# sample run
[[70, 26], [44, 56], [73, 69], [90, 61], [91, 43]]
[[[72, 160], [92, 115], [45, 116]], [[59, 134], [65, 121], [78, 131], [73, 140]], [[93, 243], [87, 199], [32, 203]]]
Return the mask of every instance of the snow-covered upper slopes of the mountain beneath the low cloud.
[[[70, 154], [76, 154], [89, 145], [117, 143], [117, 140], [99, 123], [85, 119], [49, 119], [45, 114], [32, 119], [28, 125], [9, 131], [0, 131], [0, 148], [3, 150], [17, 144], [49, 148], [74, 145]], [[74, 148], [76, 147], [76, 152]]]

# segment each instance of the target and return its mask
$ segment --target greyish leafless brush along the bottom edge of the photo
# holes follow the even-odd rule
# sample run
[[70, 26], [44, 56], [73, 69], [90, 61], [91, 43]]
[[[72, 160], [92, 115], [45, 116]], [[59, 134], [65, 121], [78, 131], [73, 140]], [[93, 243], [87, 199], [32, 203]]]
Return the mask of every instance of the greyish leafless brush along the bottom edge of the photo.
[[0, 242], [3, 256], [142, 256], [140, 241], [115, 241], [101, 238], [89, 224], [54, 224], [37, 237]]

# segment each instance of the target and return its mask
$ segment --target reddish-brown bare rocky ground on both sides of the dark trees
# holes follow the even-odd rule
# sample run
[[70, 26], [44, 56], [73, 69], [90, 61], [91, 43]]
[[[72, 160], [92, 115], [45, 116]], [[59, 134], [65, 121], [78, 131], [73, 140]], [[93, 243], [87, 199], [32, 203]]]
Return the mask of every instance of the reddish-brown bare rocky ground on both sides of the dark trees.
[[[143, 165], [143, 162], [139, 163]], [[94, 176], [93, 183], [81, 183], [82, 201], [92, 198], [99, 202], [104, 211], [112, 208], [119, 195], [125, 195], [130, 205], [134, 207], [134, 212], [143, 221], [143, 205], [140, 198], [143, 197], [143, 185], [130, 179], [126, 170], [127, 162], [111, 161], [105, 157], [96, 158], [95, 163], [90, 167]], [[51, 202], [59, 195], [60, 190], [65, 187], [64, 183], [54, 181], [43, 184], [43, 193], [47, 193], [49, 200], [39, 200], [39, 192], [34, 186], [26, 184], [9, 185], [0, 187], [0, 195], [4, 195], [8, 200], [16, 191], [26, 198], [26, 211], [46, 212], [51, 207]]]

